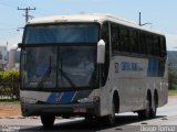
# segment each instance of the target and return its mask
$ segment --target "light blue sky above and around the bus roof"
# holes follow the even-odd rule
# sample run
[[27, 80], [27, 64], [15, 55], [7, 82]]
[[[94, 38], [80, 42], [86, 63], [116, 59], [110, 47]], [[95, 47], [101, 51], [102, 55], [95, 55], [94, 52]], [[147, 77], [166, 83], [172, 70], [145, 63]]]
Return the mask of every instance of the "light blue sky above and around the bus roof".
[[21, 42], [25, 25], [24, 11], [19, 8], [35, 8], [34, 18], [74, 14], [110, 13], [118, 18], [142, 23], [146, 29], [160, 31], [166, 35], [168, 51], [177, 50], [177, 0], [0, 0], [0, 45], [11, 48]]

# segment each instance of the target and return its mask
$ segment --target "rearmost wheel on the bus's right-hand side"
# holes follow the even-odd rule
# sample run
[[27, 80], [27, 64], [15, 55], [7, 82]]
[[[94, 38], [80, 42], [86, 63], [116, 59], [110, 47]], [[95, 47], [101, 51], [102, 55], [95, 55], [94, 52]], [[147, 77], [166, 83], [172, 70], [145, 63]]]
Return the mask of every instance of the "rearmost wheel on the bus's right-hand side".
[[152, 106], [152, 109], [150, 109], [150, 118], [155, 118], [156, 112], [157, 112], [158, 97], [157, 97], [156, 92], [154, 95], [154, 100], [153, 101], [154, 101], [154, 105]]

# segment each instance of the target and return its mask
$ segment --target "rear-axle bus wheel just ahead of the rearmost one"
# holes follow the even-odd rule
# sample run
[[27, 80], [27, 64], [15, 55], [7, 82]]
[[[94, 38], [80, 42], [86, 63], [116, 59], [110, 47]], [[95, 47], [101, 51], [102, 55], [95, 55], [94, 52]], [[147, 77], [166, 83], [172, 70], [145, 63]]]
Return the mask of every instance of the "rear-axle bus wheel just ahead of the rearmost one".
[[149, 119], [150, 116], [150, 96], [146, 98], [146, 109], [137, 112], [139, 119]]

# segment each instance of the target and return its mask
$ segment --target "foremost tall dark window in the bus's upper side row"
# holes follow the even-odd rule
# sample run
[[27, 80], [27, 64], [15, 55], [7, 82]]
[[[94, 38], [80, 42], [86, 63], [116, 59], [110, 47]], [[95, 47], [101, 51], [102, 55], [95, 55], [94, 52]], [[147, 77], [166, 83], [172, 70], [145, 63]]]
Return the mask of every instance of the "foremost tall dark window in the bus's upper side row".
[[119, 28], [117, 24], [112, 23], [112, 53], [117, 53], [119, 51]]

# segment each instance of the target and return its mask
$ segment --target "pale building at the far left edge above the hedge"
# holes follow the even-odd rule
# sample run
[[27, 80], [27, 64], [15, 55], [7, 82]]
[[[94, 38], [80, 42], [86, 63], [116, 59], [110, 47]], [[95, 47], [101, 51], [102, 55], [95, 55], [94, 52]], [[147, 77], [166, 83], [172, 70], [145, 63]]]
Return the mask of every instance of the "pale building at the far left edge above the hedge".
[[7, 46], [0, 45], [0, 70], [6, 70], [8, 64]]

